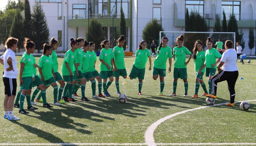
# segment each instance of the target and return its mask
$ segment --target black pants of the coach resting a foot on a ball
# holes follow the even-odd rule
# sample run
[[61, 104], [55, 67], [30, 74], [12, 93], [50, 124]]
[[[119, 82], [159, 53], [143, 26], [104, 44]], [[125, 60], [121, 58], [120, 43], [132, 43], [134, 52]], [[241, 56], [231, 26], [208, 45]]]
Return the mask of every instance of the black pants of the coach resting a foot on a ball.
[[217, 94], [217, 83], [227, 80], [228, 82], [228, 90], [230, 94], [230, 103], [234, 103], [234, 97], [236, 95], [236, 92], [234, 90], [234, 86], [236, 85], [236, 81], [238, 78], [238, 71], [222, 71], [219, 74], [216, 74], [212, 77], [212, 94]]

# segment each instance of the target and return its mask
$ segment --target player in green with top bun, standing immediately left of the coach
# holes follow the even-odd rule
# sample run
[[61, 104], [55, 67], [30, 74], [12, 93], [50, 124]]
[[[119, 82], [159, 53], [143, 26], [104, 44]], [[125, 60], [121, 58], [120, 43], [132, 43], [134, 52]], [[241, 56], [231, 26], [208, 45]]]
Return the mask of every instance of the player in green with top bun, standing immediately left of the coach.
[[[217, 49], [212, 48], [213, 43], [210, 37], [207, 38], [206, 44], [208, 49], [205, 52], [205, 65], [206, 65], [205, 76], [209, 77], [209, 80], [208, 80], [209, 93], [212, 93], [211, 79], [215, 75], [215, 72], [217, 70], [217, 63], [221, 61], [222, 55], [217, 51]], [[216, 61], [216, 57], [219, 58], [217, 61]], [[203, 94], [202, 96], [205, 96], [205, 94]]]

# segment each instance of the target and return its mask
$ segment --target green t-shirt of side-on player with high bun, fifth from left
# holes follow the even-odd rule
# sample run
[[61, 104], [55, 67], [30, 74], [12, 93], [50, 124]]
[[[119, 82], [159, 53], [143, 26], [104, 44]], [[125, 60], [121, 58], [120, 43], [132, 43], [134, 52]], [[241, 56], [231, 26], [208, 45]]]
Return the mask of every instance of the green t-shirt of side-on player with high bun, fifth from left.
[[76, 53], [73, 52], [71, 49], [69, 49], [65, 54], [65, 57], [64, 57], [64, 60], [62, 63], [62, 67], [61, 67], [62, 76], [70, 75], [65, 62], [67, 62], [69, 64], [69, 68], [70, 68], [71, 72], [73, 72], [74, 63], [77, 63], [77, 60], [76, 60]]

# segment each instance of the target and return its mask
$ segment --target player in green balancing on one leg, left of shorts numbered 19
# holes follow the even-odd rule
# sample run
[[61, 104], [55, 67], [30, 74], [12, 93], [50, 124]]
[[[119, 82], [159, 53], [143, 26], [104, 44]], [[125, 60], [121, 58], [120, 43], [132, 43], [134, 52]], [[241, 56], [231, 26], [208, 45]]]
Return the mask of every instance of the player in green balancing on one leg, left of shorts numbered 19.
[[139, 48], [136, 51], [136, 55], [135, 55], [135, 60], [131, 69], [131, 73], [129, 75], [130, 79], [134, 79], [137, 78], [139, 79], [139, 95], [142, 95], [141, 93], [141, 88], [143, 85], [143, 79], [144, 79], [144, 75], [145, 75], [145, 68], [146, 68], [146, 63], [147, 63], [147, 57], [148, 60], [150, 61], [150, 67], [148, 68], [148, 70], [151, 70], [151, 54], [150, 51], [148, 51], [148, 49], [146, 49], [147, 47], [147, 43], [146, 41], [141, 41], [139, 44]]

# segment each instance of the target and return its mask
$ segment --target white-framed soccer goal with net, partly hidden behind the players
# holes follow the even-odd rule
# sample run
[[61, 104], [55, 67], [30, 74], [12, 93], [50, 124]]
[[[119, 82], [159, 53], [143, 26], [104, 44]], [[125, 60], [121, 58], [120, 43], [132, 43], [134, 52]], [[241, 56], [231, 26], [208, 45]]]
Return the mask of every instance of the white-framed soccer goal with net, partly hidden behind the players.
[[180, 35], [184, 35], [184, 46], [188, 48], [190, 51], [193, 50], [194, 44], [196, 40], [201, 40], [203, 42], [204, 50], [207, 49], [206, 41], [208, 37], [212, 38], [213, 48], [216, 48], [215, 43], [221, 39], [223, 42], [223, 49], [225, 49], [225, 41], [231, 40], [234, 43], [234, 48], [236, 47], [236, 33], [232, 32], [172, 32], [172, 31], [160, 31], [159, 32], [159, 40], [163, 36], [166, 36], [169, 40], [168, 46], [173, 48], [176, 47], [177, 44], [175, 43], [176, 38]]

